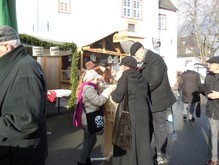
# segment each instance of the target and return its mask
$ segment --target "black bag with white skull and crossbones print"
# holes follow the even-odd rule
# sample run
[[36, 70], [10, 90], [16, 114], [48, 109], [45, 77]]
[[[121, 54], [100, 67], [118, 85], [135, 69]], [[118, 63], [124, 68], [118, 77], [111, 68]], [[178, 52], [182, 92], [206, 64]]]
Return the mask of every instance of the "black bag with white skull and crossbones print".
[[87, 118], [87, 126], [90, 133], [96, 133], [104, 128], [104, 118], [101, 109], [87, 113], [82, 103]]

